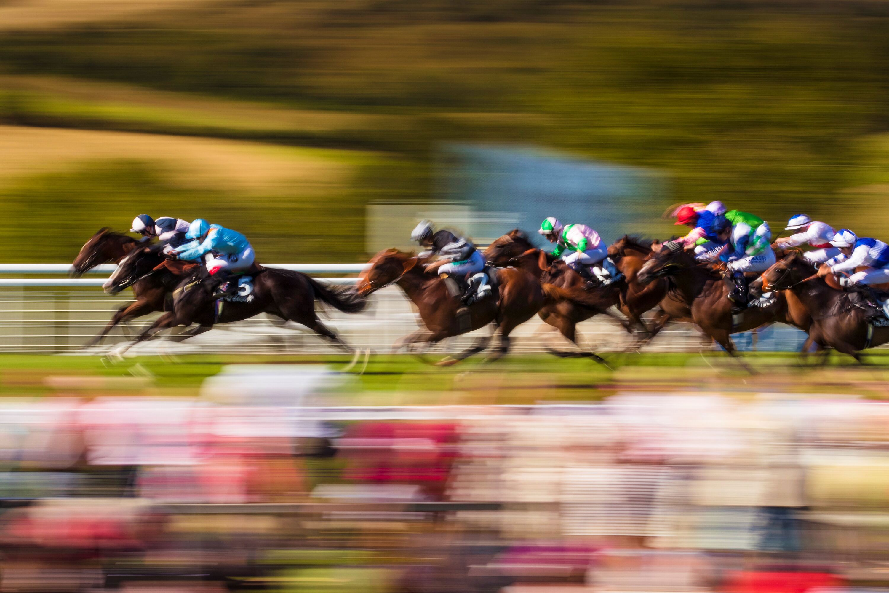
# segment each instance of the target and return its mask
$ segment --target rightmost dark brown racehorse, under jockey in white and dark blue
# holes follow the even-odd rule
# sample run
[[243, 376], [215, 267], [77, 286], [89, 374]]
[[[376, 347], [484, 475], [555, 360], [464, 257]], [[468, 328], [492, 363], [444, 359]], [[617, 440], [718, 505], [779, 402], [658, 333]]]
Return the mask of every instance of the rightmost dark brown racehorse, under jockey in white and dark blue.
[[837, 279], [814, 277], [812, 264], [799, 252], [789, 252], [750, 285], [796, 297], [811, 319], [809, 339], [820, 349], [827, 346], [863, 363], [861, 350], [889, 342], [889, 327], [871, 326], [867, 312], [853, 304]]

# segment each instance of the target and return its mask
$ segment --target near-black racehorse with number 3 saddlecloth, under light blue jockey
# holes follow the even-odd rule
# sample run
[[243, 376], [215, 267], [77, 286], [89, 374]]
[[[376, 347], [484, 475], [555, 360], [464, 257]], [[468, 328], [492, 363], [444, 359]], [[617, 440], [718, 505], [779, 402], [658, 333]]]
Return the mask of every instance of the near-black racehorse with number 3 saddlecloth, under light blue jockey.
[[[142, 247], [133, 250], [117, 265], [114, 274], [104, 285], [106, 292], [120, 292], [138, 282], [146, 274], [153, 275], [162, 256], [156, 249]], [[164, 264], [165, 268], [176, 263]], [[195, 272], [183, 277], [172, 292], [169, 310], [149, 325], [133, 344], [145, 341], [158, 332], [178, 325], [196, 327], [182, 334], [184, 338], [209, 330], [216, 324], [227, 324], [268, 313], [282, 319], [305, 325], [335, 345], [350, 352], [348, 344], [330, 328], [321, 323], [315, 311], [315, 301], [321, 301], [344, 313], [358, 313], [364, 309], [365, 300], [355, 292], [325, 286], [300, 272], [287, 269], [255, 266], [252, 276], [252, 292], [249, 301], [217, 301], [211, 288], [205, 283], [195, 266]], [[150, 277], [150, 276], [149, 276]], [[132, 346], [132, 344], [130, 345]], [[128, 346], [127, 349], [130, 347]]]

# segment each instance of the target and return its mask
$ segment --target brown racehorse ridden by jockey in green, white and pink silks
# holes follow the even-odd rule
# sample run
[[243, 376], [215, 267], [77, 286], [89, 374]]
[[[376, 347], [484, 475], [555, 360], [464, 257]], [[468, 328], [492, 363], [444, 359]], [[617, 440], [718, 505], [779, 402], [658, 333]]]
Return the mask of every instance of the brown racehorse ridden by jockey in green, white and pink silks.
[[[494, 240], [483, 253], [486, 261], [496, 266], [509, 266], [520, 258], [523, 266], [547, 287], [548, 299], [538, 315], [549, 325], [557, 328], [565, 338], [581, 348], [577, 342], [577, 324], [597, 315], [607, 315], [617, 320], [632, 333], [633, 328], [621, 317], [614, 314], [612, 307], [621, 302], [620, 284], [588, 290], [586, 281], [580, 274], [565, 265], [563, 261], [552, 261], [548, 252], [537, 249], [525, 233], [515, 229]], [[557, 357], [594, 357], [592, 352], [562, 352], [546, 347]]]

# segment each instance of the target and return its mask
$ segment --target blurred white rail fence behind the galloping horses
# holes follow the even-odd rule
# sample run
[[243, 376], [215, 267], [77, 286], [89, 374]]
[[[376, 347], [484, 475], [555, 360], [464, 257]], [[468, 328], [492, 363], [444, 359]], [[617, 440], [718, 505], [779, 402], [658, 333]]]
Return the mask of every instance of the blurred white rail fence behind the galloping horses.
[[[356, 277], [342, 276], [360, 273], [366, 264], [269, 264], [268, 268], [284, 268], [316, 276], [331, 284], [354, 284]], [[138, 333], [152, 318], [133, 320], [118, 326], [105, 341], [105, 346], [84, 349], [84, 344], [99, 333], [115, 311], [127, 301], [131, 293], [116, 296], [100, 290], [114, 265], [92, 268], [87, 274], [100, 277], [33, 277], [67, 275], [68, 264], [0, 264], [0, 352], [32, 353], [98, 353], [114, 347]], [[7, 277], [21, 275], [24, 277]], [[31, 276], [31, 277], [28, 277]], [[396, 287], [376, 292], [368, 308], [359, 315], [328, 312], [325, 324], [357, 348], [388, 351], [407, 333], [418, 328], [416, 313], [403, 293]], [[619, 350], [629, 344], [629, 335], [607, 319], [595, 318], [579, 326], [579, 332], [590, 348]], [[483, 329], [446, 342], [438, 349], [456, 351], [466, 348]], [[551, 347], [565, 349], [566, 342], [553, 333], [538, 317], [521, 325], [513, 333], [513, 350], [537, 352]], [[802, 333], [789, 327], [768, 331], [760, 341], [762, 349], [797, 349]], [[741, 335], [736, 342], [743, 348], [749, 345], [749, 335]], [[652, 342], [648, 349], [656, 351], [689, 351], [711, 348], [691, 325], [669, 326]], [[330, 353], [336, 352], [325, 341], [300, 325], [283, 324], [265, 315], [231, 325], [219, 325], [211, 332], [180, 343], [149, 341], [132, 349], [133, 354], [166, 353]]]

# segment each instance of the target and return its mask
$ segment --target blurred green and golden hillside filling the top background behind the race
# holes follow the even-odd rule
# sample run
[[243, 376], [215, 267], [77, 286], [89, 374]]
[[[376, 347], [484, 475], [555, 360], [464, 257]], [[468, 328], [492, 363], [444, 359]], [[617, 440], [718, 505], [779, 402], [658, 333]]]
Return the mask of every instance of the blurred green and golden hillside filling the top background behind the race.
[[[70, 260], [143, 211], [266, 261], [361, 259], [364, 204], [434, 198], [453, 140], [889, 236], [889, 2], [90, 1], [0, 4], [5, 260]], [[672, 234], [667, 205], [640, 232]]]

